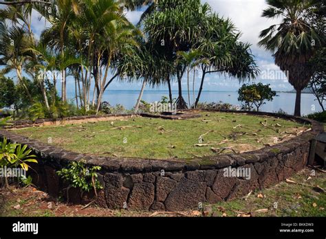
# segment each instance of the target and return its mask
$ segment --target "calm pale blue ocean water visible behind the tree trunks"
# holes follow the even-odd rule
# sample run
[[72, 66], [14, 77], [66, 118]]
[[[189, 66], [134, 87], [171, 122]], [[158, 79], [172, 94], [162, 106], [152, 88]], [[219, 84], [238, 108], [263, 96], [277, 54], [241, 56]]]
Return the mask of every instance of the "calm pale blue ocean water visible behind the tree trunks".
[[[74, 93], [67, 92], [68, 98], [74, 98]], [[126, 109], [132, 109], [135, 106], [135, 102], [138, 99], [140, 91], [138, 90], [111, 90], [106, 91], [103, 95], [103, 101], [109, 102], [111, 105], [122, 104]], [[173, 98], [177, 98], [177, 91], [172, 91]], [[145, 90], [142, 96], [142, 100], [146, 102], [160, 101], [162, 96], [169, 97], [169, 91], [162, 90]], [[183, 91], [182, 95], [184, 100], [188, 102], [188, 93]], [[197, 91], [195, 91], [195, 97], [197, 97]], [[240, 105], [238, 102], [238, 93], [236, 91], [202, 91], [199, 102], [226, 102], [233, 105]], [[296, 94], [295, 93], [284, 93], [278, 92], [274, 97], [272, 102], [266, 102], [263, 104], [260, 111], [275, 112], [282, 109], [288, 114], [294, 113], [294, 102]], [[192, 92], [191, 92], [191, 102], [193, 102]], [[326, 106], [326, 104], [325, 104]], [[321, 107], [315, 100], [314, 95], [311, 93], [303, 93], [301, 95], [301, 114], [307, 115], [309, 113], [314, 113], [321, 111]]]

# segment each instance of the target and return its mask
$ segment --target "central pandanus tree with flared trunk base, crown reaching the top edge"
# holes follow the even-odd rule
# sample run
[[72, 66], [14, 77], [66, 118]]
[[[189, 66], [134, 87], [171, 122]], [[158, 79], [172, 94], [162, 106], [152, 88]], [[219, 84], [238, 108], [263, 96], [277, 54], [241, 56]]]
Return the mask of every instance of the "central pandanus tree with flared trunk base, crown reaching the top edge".
[[155, 12], [144, 19], [144, 33], [148, 41], [175, 65], [179, 109], [187, 107], [182, 97], [182, 77], [186, 65], [177, 61], [177, 52], [191, 49], [200, 32], [198, 25], [209, 12], [209, 5], [202, 5], [199, 0], [162, 0], [155, 4]]

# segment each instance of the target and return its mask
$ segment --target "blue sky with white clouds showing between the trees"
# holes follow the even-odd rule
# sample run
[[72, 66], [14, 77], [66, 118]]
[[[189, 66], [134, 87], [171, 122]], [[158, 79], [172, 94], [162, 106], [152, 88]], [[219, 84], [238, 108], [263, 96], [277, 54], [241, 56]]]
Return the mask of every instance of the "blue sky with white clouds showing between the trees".
[[[230, 18], [235, 26], [242, 32], [241, 41], [248, 42], [252, 45], [252, 54], [255, 56], [257, 65], [261, 69], [261, 76], [255, 82], [263, 82], [270, 84], [272, 89], [276, 91], [290, 91], [293, 87], [287, 82], [287, 78], [280, 71], [279, 67], [274, 65], [272, 53], [260, 48], [257, 43], [259, 41], [259, 32], [269, 27], [273, 23], [278, 23], [279, 20], [269, 20], [261, 17], [261, 12], [267, 7], [265, 0], [202, 0], [202, 3], [207, 2], [212, 7], [213, 11], [217, 12], [219, 16]], [[137, 23], [142, 10], [127, 12], [127, 18], [132, 23]], [[39, 20], [39, 14], [34, 12], [32, 14], [32, 30], [36, 37], [41, 34], [45, 27], [49, 24], [45, 23], [43, 19]], [[199, 88], [200, 71], [196, 73], [195, 89]], [[192, 76], [191, 76], [192, 79]], [[186, 80], [183, 80], [184, 89], [186, 89]], [[204, 82], [204, 90], [210, 91], [237, 91], [241, 86], [237, 79], [229, 79], [218, 74], [210, 74], [206, 76]], [[68, 89], [74, 89], [74, 80], [72, 78], [67, 80]], [[141, 87], [141, 82], [133, 84], [122, 84], [118, 81], [113, 81], [109, 86], [109, 90], [132, 89], [138, 90]], [[160, 87], [155, 89], [166, 89], [167, 87]], [[147, 88], [151, 89], [151, 88]], [[152, 90], [155, 90], [152, 89]], [[177, 84], [173, 83], [173, 89], [177, 89]], [[60, 89], [58, 89], [60, 91]]]

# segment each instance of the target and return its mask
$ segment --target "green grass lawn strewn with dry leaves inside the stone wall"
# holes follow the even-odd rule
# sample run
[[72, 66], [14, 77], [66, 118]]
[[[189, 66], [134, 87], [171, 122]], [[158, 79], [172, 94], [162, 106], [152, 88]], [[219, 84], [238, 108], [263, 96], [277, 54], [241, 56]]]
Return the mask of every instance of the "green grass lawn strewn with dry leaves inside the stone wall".
[[[114, 122], [23, 128], [14, 132], [74, 152], [149, 159], [191, 159], [214, 155], [222, 148], [232, 148], [235, 152], [255, 150], [295, 137], [296, 133], [309, 128], [291, 120], [267, 116], [201, 114], [202, 117], [189, 120], [133, 117]], [[199, 139], [201, 135], [204, 135], [202, 141]], [[226, 149], [222, 153], [232, 150]]]

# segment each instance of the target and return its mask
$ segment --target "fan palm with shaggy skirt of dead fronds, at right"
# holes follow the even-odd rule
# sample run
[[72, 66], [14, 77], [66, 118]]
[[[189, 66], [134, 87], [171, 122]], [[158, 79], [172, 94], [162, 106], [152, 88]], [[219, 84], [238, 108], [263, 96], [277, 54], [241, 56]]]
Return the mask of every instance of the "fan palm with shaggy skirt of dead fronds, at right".
[[320, 1], [276, 1], [268, 0], [269, 7], [262, 16], [281, 18], [280, 24], [271, 25], [261, 31], [259, 45], [273, 53], [275, 64], [285, 72], [296, 90], [294, 115], [301, 115], [301, 91], [314, 73], [308, 61], [323, 45], [325, 36], [320, 36], [309, 24], [309, 8]]

